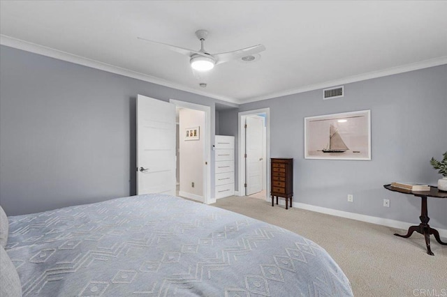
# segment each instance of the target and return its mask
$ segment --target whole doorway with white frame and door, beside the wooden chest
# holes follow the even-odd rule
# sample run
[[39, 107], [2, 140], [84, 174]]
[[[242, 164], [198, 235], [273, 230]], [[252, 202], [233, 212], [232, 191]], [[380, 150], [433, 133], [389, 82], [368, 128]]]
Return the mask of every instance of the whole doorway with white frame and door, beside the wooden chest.
[[240, 196], [268, 200], [270, 193], [270, 109], [239, 113]]

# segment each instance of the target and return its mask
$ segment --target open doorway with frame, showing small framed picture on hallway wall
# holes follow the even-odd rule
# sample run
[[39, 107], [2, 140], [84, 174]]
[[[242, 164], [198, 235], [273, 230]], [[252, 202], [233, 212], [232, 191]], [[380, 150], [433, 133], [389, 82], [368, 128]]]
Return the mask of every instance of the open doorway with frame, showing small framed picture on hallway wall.
[[205, 204], [210, 195], [210, 107], [170, 100], [177, 114], [176, 195]]

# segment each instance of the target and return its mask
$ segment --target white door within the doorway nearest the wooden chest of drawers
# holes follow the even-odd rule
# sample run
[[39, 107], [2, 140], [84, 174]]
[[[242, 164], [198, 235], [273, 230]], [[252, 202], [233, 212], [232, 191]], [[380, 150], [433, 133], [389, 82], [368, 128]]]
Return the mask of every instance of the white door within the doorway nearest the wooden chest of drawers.
[[247, 116], [245, 120], [245, 195], [263, 190], [263, 130], [262, 116]]

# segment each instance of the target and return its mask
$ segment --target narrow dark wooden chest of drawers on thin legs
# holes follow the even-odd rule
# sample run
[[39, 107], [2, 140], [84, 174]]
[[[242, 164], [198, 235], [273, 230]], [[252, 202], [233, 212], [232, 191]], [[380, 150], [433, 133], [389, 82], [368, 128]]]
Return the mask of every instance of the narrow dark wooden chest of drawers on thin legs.
[[288, 209], [288, 201], [292, 207], [293, 198], [293, 159], [292, 158], [272, 158], [270, 159], [270, 176], [272, 196], [272, 206], [274, 197], [286, 198], [286, 209]]

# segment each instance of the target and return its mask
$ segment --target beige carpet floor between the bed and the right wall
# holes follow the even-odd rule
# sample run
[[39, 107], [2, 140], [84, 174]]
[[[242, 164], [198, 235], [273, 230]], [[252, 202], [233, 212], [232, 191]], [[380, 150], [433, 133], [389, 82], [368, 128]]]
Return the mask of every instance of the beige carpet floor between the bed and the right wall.
[[354, 296], [447, 296], [447, 245], [440, 245], [433, 236], [434, 256], [430, 256], [423, 235], [393, 236], [406, 234], [406, 230], [297, 208], [286, 211], [284, 206], [272, 207], [251, 197], [227, 197], [213, 206], [275, 224], [318, 243], [349, 278]]

